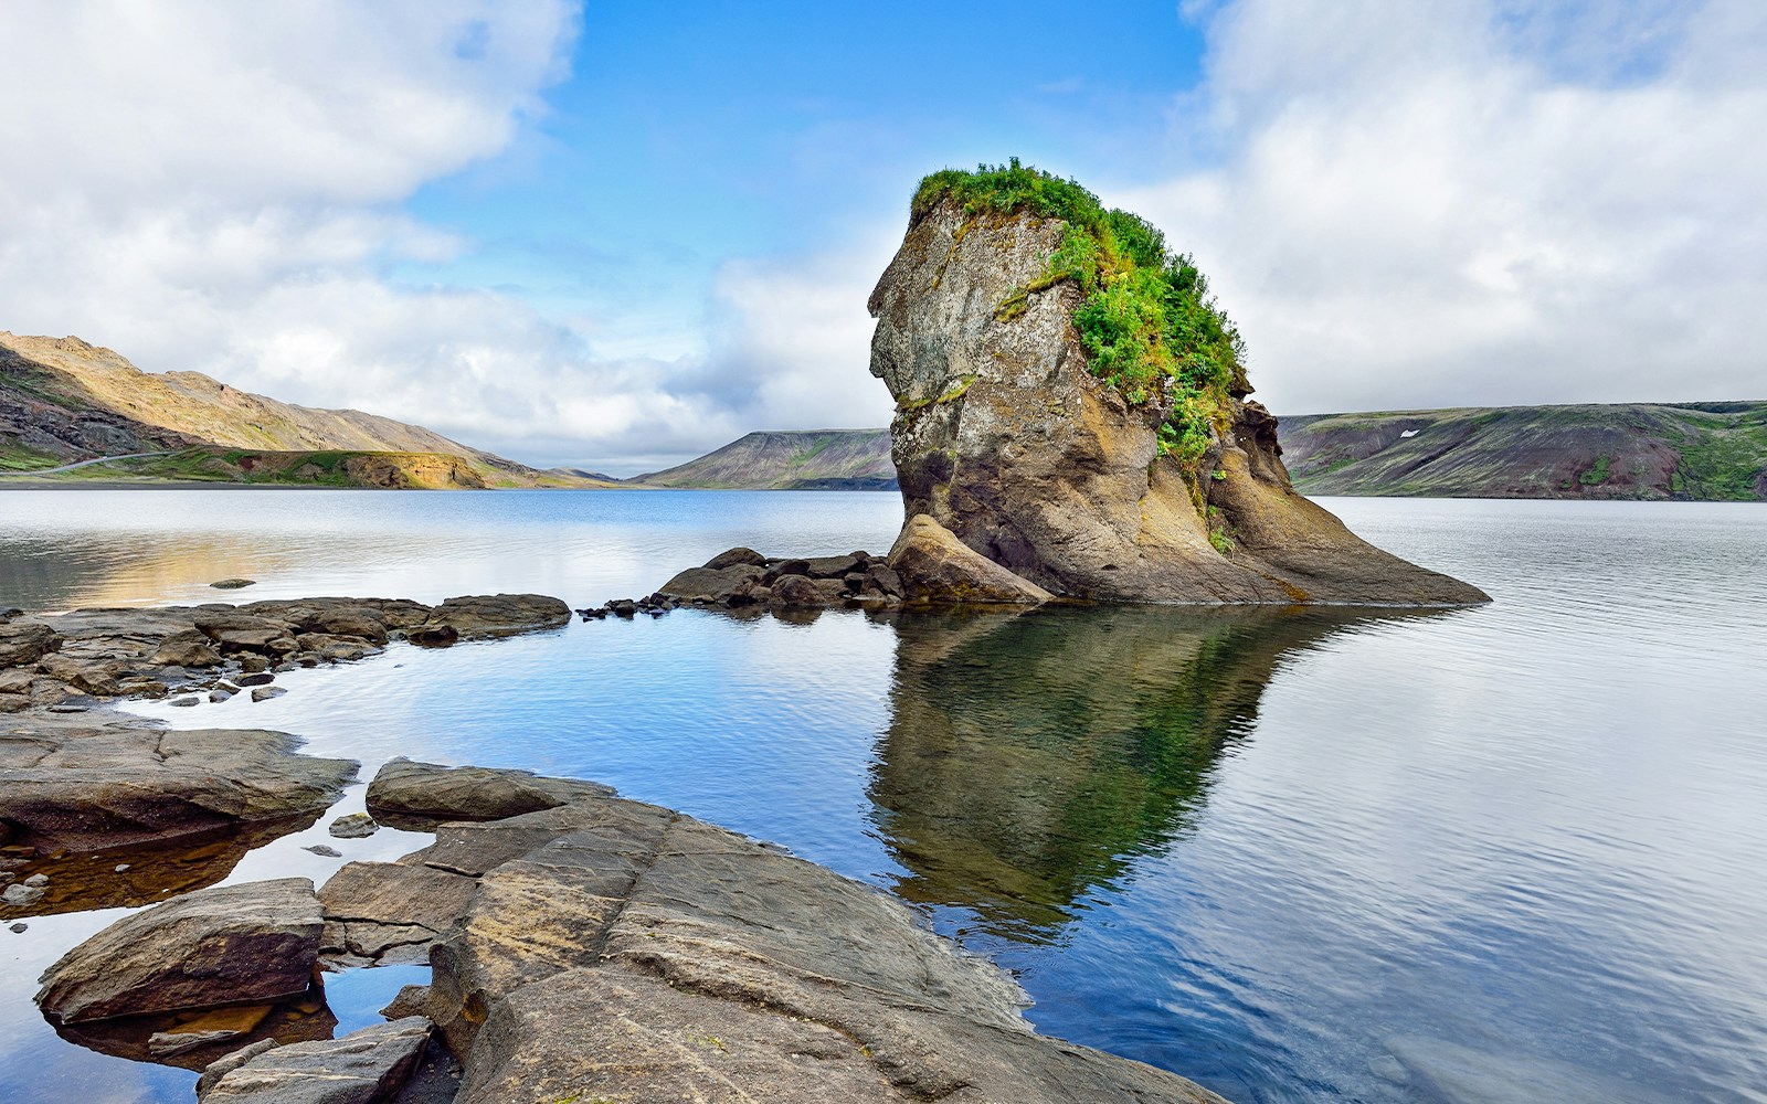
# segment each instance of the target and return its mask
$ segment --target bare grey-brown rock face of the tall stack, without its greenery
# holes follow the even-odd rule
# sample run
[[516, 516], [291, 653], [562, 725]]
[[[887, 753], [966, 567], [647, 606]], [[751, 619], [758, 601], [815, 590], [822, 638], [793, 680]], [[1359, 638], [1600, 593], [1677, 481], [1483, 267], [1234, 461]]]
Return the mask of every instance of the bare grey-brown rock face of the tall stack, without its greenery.
[[[1170, 397], [1088, 369], [1081, 290], [1043, 290], [1066, 224], [919, 214], [871, 295], [871, 374], [896, 397], [908, 518], [1067, 597], [1127, 602], [1463, 604], [1483, 592], [1391, 556], [1288, 482], [1276, 419], [1232, 399], [1200, 468], [1159, 447]], [[1023, 300], [1016, 309], [1014, 299]], [[1196, 472], [1196, 473], [1191, 473]]]

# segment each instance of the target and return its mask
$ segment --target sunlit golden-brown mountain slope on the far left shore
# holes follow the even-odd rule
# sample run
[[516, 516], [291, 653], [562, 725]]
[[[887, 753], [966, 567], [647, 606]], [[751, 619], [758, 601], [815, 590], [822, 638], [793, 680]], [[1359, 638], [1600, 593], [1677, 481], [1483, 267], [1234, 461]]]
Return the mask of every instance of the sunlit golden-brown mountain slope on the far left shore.
[[134, 456], [60, 479], [131, 477], [322, 486], [585, 486], [422, 426], [316, 410], [201, 373], [143, 373], [80, 337], [0, 330], [0, 470]]

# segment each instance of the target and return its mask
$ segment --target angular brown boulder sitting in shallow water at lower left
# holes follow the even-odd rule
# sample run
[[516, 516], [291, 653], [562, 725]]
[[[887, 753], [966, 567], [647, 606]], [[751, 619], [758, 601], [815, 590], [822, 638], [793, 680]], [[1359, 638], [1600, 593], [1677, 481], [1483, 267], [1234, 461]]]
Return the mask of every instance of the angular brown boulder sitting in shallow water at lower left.
[[198, 890], [124, 917], [42, 975], [55, 1023], [277, 1002], [318, 963], [323, 919], [306, 878]]

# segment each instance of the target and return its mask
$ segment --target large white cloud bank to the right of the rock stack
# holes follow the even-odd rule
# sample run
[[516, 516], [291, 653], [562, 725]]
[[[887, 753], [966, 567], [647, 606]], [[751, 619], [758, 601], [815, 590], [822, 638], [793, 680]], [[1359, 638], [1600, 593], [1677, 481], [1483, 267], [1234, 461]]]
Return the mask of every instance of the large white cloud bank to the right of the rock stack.
[[1209, 34], [1182, 120], [1223, 161], [1110, 200], [1194, 249], [1274, 408], [1767, 394], [1762, 5], [1248, 0]]

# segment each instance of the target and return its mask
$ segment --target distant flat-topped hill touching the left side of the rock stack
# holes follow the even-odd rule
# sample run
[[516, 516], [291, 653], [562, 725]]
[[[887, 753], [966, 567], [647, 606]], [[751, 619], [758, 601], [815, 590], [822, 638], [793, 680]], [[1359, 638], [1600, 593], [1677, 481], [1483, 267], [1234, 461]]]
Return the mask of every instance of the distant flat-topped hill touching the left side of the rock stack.
[[889, 429], [760, 431], [626, 482], [746, 491], [892, 491], [896, 465], [889, 456]]

